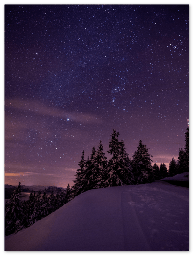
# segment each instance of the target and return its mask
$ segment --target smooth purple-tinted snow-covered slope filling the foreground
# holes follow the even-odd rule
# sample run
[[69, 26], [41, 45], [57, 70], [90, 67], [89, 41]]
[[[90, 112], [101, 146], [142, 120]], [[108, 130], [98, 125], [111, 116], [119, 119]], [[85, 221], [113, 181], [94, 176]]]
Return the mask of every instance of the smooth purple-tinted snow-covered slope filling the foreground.
[[188, 251], [189, 189], [151, 184], [87, 191], [18, 234], [6, 251]]

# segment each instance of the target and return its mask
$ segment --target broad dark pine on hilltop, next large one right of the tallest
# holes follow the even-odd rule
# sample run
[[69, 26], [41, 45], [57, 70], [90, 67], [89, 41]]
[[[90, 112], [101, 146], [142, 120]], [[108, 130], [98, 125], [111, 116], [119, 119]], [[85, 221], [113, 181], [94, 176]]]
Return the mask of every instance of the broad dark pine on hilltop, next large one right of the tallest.
[[139, 146], [137, 151], [135, 151], [132, 160], [133, 175], [136, 184], [150, 183], [154, 181], [153, 167], [151, 162], [153, 162], [148, 154], [148, 149], [146, 145], [139, 141]]

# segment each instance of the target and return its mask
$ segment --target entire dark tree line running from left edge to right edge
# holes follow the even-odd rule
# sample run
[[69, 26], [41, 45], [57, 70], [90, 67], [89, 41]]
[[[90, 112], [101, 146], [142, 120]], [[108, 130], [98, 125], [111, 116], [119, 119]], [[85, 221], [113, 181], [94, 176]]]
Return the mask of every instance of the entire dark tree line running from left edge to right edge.
[[11, 199], [5, 204], [5, 236], [31, 226], [87, 190], [151, 183], [189, 171], [189, 127], [185, 133], [185, 148], [179, 149], [177, 162], [174, 158], [170, 161], [168, 171], [164, 163], [160, 164], [160, 168], [156, 163], [152, 165], [149, 148], [141, 140], [131, 160], [126, 153], [123, 140], [119, 141], [118, 137], [119, 132], [114, 129], [109, 142], [108, 153], [112, 155], [109, 161], [103, 152], [101, 140], [97, 150], [95, 147], [92, 148], [87, 160], [84, 159], [83, 151], [76, 178], [73, 180], [75, 184], [71, 188], [68, 184], [67, 189], [60, 194], [56, 193], [56, 196], [52, 192], [48, 197], [44, 191], [41, 198], [41, 191], [31, 191], [29, 199], [22, 202], [19, 182]]

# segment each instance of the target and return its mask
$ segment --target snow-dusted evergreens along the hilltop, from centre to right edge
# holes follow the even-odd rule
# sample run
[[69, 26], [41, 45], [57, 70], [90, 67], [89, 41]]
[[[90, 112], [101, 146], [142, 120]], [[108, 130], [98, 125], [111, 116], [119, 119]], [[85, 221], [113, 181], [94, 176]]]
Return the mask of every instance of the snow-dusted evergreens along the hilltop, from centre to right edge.
[[129, 159], [125, 144], [123, 140], [118, 140], [118, 136], [119, 132], [114, 129], [109, 142], [108, 153], [112, 155], [109, 161], [103, 152], [101, 140], [97, 151], [95, 147], [92, 148], [90, 159], [88, 157], [85, 160], [84, 151], [82, 152], [78, 164], [80, 168], [75, 175], [76, 179], [73, 180], [75, 184], [71, 188], [71, 198], [90, 189], [150, 183], [189, 171], [189, 127], [185, 133], [185, 148], [179, 149], [177, 162], [174, 158], [170, 161], [169, 171], [164, 163], [160, 164], [160, 168], [156, 163], [152, 165], [149, 148], [141, 140], [132, 160]]

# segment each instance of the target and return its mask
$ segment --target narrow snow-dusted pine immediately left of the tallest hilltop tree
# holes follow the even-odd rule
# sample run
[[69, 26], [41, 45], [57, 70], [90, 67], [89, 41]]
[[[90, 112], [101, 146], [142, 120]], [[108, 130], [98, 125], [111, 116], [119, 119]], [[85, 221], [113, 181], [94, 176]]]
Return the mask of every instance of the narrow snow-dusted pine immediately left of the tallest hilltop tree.
[[91, 188], [104, 188], [107, 186], [107, 158], [103, 152], [102, 141], [100, 140], [97, 152], [91, 158]]

